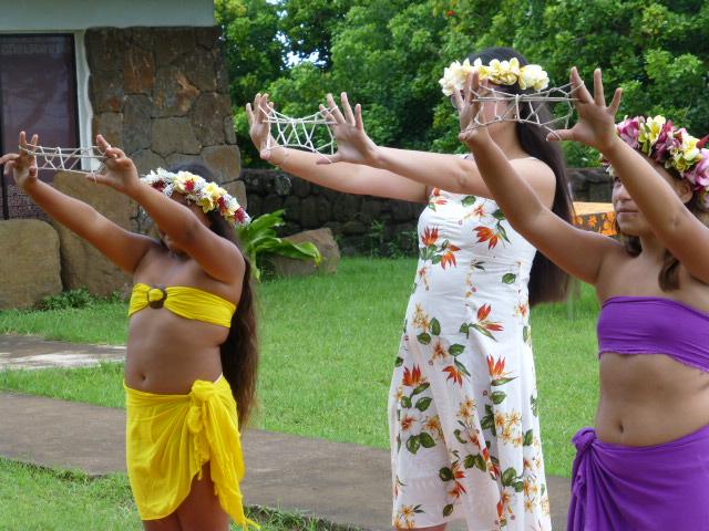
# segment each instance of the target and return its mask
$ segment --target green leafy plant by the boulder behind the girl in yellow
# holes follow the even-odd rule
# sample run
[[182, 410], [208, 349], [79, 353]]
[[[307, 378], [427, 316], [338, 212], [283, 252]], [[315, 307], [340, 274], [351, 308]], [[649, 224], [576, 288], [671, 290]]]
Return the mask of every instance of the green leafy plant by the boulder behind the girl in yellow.
[[285, 210], [281, 209], [264, 214], [254, 219], [248, 226], [238, 229], [244, 253], [251, 262], [256, 280], [261, 279], [264, 259], [269, 256], [279, 254], [297, 260], [314, 259], [315, 263], [320, 263], [322, 260], [320, 251], [314, 243], [309, 241], [295, 243], [278, 238], [275, 228], [285, 225], [284, 212]]

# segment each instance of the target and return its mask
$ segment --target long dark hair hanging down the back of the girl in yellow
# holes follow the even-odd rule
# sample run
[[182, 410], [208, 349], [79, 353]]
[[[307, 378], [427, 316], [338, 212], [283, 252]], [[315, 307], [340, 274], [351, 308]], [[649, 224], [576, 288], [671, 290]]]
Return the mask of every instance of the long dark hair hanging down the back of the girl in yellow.
[[[214, 175], [204, 165], [193, 162], [175, 165], [169, 171], [189, 171], [206, 180], [214, 180]], [[234, 227], [217, 210], [207, 212], [212, 232], [226, 238], [239, 250], [242, 244]], [[246, 426], [256, 405], [256, 381], [258, 374], [258, 331], [256, 324], [256, 301], [251, 285], [251, 264], [244, 256], [246, 271], [242, 296], [232, 316], [232, 327], [226, 341], [219, 346], [222, 372], [232, 387], [236, 400], [239, 424]]]

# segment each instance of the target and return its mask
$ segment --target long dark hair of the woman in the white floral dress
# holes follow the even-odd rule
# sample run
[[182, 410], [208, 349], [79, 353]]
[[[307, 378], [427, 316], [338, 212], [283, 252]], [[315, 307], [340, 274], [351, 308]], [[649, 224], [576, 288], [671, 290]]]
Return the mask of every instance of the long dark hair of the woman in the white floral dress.
[[[480, 59], [483, 64], [490, 64], [493, 59], [500, 61], [510, 61], [516, 58], [520, 66], [530, 64], [530, 62], [512, 48], [487, 48], [480, 53], [471, 53], [469, 60], [471, 64]], [[523, 91], [520, 85], [500, 85], [495, 90], [506, 92], [508, 94], [528, 94], [531, 88]], [[549, 122], [552, 113], [545, 104], [538, 105], [534, 110], [528, 105], [520, 105], [521, 118], [530, 116], [535, 111], [543, 122]], [[554, 202], [552, 211], [567, 222], [573, 222], [574, 206], [571, 195], [571, 186], [568, 176], [566, 175], [566, 165], [564, 163], [564, 154], [556, 143], [546, 139], [546, 133], [538, 125], [517, 122], [517, 137], [522, 148], [530, 155], [543, 160], [556, 177], [556, 187], [554, 190]], [[537, 252], [532, 262], [532, 272], [530, 273], [530, 305], [540, 302], [556, 302], [565, 300], [571, 291], [571, 277], [558, 266], [552, 262], [541, 252]]]

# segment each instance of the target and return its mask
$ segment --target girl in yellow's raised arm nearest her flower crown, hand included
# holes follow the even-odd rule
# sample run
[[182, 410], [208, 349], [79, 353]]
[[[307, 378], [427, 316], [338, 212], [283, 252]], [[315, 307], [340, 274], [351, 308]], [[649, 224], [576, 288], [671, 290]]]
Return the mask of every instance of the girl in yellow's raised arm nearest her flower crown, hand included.
[[122, 149], [110, 146], [101, 136], [96, 142], [107, 157], [107, 173], [95, 176], [99, 183], [115, 188], [141, 205], [160, 229], [208, 275], [227, 284], [242, 281], [246, 266], [234, 243], [209, 230], [188, 207], [142, 183], [133, 160]]

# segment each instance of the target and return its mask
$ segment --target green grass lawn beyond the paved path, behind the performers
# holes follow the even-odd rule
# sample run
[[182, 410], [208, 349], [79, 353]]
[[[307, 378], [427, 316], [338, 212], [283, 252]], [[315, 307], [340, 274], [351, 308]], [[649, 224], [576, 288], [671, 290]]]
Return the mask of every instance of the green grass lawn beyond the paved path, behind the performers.
[[[387, 400], [415, 260], [346, 259], [337, 275], [260, 287], [260, 427], [387, 448]], [[588, 287], [574, 302], [532, 312], [547, 473], [571, 475], [571, 437], [593, 424], [595, 322]], [[124, 304], [0, 312], [0, 333], [74, 342], [125, 342]], [[122, 366], [0, 372], [0, 388], [123, 406]]]

